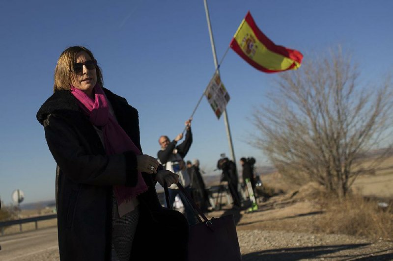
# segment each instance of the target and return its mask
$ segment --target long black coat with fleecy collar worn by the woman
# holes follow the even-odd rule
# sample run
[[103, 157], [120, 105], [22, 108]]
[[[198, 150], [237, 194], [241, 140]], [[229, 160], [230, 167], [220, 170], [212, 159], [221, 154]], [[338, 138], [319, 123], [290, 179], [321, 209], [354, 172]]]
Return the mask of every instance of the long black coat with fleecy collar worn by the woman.
[[[142, 151], [138, 111], [126, 99], [103, 89], [119, 125]], [[131, 151], [106, 155], [96, 130], [68, 90], [56, 91], [38, 110], [37, 120], [44, 126], [48, 147], [57, 163], [60, 259], [111, 260], [112, 189], [113, 185], [136, 185], [136, 155]], [[170, 242], [175, 240], [180, 247], [177, 243], [179, 251], [173, 260], [185, 260], [187, 220], [180, 212], [161, 207], [153, 177], [147, 173], [142, 177], [149, 188], [138, 196], [140, 219], [132, 259], [162, 259], [168, 249], [173, 249]]]

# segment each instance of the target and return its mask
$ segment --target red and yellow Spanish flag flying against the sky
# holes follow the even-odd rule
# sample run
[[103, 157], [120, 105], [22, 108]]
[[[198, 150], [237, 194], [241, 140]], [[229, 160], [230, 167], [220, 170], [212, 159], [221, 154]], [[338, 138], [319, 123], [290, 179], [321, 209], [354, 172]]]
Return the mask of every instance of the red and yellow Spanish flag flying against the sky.
[[296, 70], [303, 59], [301, 52], [276, 45], [267, 38], [256, 26], [250, 11], [233, 36], [230, 48], [265, 73]]

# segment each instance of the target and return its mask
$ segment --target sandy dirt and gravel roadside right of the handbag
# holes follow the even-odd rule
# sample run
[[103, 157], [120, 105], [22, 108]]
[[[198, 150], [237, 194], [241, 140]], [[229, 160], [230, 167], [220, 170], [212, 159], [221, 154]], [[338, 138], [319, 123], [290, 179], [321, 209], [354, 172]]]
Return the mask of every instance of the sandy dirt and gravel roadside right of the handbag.
[[243, 261], [393, 260], [392, 241], [312, 233], [323, 211], [315, 202], [292, 196], [272, 197], [252, 213], [224, 207], [208, 216], [234, 215]]

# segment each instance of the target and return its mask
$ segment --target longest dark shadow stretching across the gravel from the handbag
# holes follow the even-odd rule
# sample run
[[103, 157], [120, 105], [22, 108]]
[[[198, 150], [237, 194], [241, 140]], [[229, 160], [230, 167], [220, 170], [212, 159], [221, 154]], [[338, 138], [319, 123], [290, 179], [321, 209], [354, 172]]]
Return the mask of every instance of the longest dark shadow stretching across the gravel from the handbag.
[[[369, 244], [349, 244], [349, 245], [330, 245], [330, 246], [314, 246], [314, 247], [294, 247], [270, 249], [260, 252], [254, 252], [242, 256], [243, 261], [281, 261], [281, 260], [303, 260], [313, 259], [322, 255], [335, 253], [341, 250], [363, 247]], [[354, 256], [329, 257], [329, 259], [343, 260], [346, 258], [354, 258]]]

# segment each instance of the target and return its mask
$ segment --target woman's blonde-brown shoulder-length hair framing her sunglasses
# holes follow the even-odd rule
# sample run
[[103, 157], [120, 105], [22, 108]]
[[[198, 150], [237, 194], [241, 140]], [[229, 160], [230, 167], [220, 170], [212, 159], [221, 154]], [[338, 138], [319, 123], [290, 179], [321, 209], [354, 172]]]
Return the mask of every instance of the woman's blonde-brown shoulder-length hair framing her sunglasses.
[[[80, 52], [87, 52], [92, 60], [95, 59], [93, 53], [83, 46], [72, 46], [65, 49], [57, 60], [53, 85], [54, 92], [58, 90], [70, 89], [70, 86], [72, 85], [72, 78], [74, 77], [74, 63], [78, 53]], [[96, 68], [96, 73], [97, 83], [103, 86], [102, 73], [98, 65]]]

